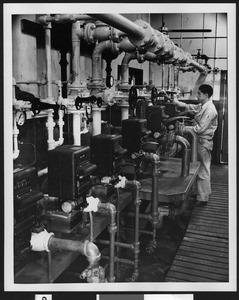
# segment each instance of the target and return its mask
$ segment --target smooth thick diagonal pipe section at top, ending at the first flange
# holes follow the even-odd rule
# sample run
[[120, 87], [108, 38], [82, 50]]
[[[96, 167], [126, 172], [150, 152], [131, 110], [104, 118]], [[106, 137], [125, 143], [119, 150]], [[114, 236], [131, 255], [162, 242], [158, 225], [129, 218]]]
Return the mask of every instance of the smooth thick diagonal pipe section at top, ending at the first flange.
[[120, 14], [89, 14], [89, 16], [122, 30], [129, 36], [134, 36], [139, 39], [143, 39], [145, 36], [143, 28]]

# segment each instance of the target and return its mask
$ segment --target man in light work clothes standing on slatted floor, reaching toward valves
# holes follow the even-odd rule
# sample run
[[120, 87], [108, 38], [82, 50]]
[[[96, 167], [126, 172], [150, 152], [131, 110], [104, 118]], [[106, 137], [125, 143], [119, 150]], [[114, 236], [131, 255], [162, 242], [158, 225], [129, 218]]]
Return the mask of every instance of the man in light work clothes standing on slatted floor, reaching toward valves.
[[179, 107], [195, 113], [191, 127], [198, 137], [198, 161], [200, 162], [197, 178], [197, 205], [206, 205], [211, 194], [210, 167], [213, 136], [217, 129], [217, 111], [212, 103], [213, 88], [202, 84], [197, 93], [199, 104], [186, 104], [175, 97], [173, 102]]

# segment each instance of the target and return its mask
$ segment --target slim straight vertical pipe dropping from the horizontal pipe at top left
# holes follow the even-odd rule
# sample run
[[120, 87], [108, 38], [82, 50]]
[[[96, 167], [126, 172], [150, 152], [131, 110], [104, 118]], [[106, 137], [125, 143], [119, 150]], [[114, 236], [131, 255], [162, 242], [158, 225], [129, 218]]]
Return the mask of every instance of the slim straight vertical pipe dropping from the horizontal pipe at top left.
[[51, 23], [45, 26], [47, 97], [52, 98], [52, 72], [51, 72]]

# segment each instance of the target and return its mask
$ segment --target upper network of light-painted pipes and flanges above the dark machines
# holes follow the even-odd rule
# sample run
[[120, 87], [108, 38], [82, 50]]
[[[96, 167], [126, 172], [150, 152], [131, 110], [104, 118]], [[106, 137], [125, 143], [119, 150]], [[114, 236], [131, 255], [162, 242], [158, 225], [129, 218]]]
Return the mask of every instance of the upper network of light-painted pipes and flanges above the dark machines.
[[[96, 19], [95, 23], [89, 20]], [[88, 21], [84, 27], [82, 22]], [[101, 22], [100, 22], [101, 21]], [[158, 30], [153, 29], [150, 24], [145, 21], [137, 20], [132, 22], [119, 14], [92, 14], [92, 15], [55, 15], [55, 16], [41, 16], [39, 23], [45, 28], [45, 50], [46, 50], [46, 83], [38, 82], [39, 85], [47, 84], [47, 99], [41, 99], [44, 103], [58, 104], [60, 107], [64, 105], [67, 107], [67, 112], [73, 114], [73, 136], [74, 144], [81, 145], [81, 135], [88, 131], [86, 126], [86, 111], [85, 109], [76, 109], [75, 99], [71, 96], [67, 98], [62, 97], [62, 83], [61, 81], [52, 81], [51, 70], [51, 23], [72, 22], [72, 73], [74, 80], [72, 84], [68, 85], [69, 93], [73, 91], [77, 96], [87, 98], [90, 95], [95, 95], [103, 99], [104, 105], [98, 107], [92, 104], [92, 119], [93, 119], [93, 135], [101, 133], [101, 111], [106, 109], [107, 105], [117, 103], [121, 107], [122, 120], [128, 118], [128, 91], [130, 86], [128, 84], [129, 77], [129, 63], [132, 59], [137, 59], [140, 63], [149, 61], [149, 67], [152, 68], [152, 63], [158, 64], [172, 64], [179, 65], [181, 68], [192, 68], [206, 73], [207, 67], [199, 64], [192, 59], [192, 56], [177, 47], [167, 35]], [[104, 23], [102, 23], [104, 22]], [[86, 84], [80, 78], [80, 40], [84, 39], [88, 43], [96, 43], [92, 55], [92, 79]], [[121, 83], [118, 85], [118, 90], [108, 89], [103, 82], [101, 61], [104, 51], [110, 50], [116, 57], [125, 52], [122, 60]], [[149, 77], [152, 76], [152, 70], [149, 70]], [[152, 78], [149, 78], [152, 82]], [[36, 83], [19, 82], [19, 83]], [[13, 81], [14, 86], [18, 82]], [[58, 86], [58, 99], [53, 98], [52, 84]], [[30, 110], [31, 104], [24, 101], [17, 101], [15, 99], [15, 92], [13, 91], [13, 158], [16, 159], [19, 155], [18, 149], [18, 129], [16, 123], [16, 111]], [[45, 115], [45, 114], [44, 114]], [[52, 109], [47, 110], [46, 127], [48, 130], [48, 149], [63, 144], [63, 111], [59, 109], [59, 139], [54, 140], [53, 130], [56, 123], [53, 120]], [[84, 124], [82, 126], [82, 124]]]

